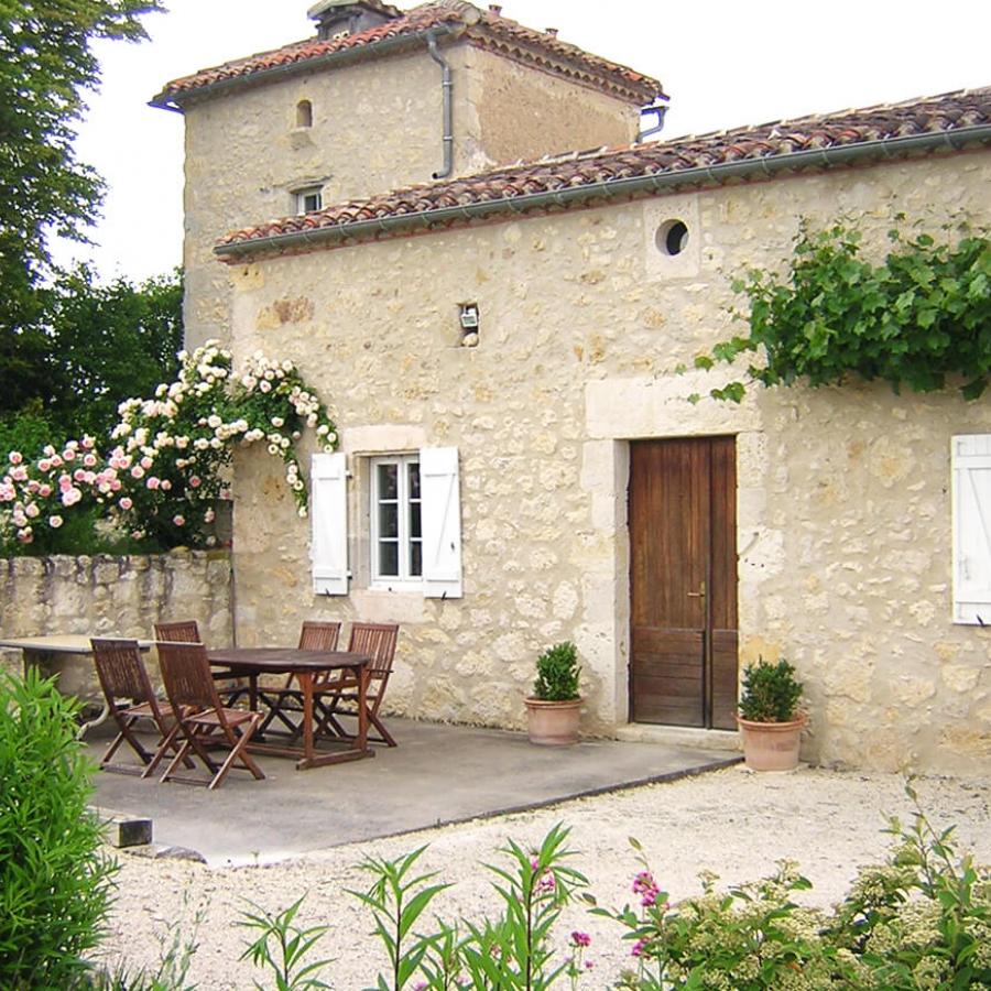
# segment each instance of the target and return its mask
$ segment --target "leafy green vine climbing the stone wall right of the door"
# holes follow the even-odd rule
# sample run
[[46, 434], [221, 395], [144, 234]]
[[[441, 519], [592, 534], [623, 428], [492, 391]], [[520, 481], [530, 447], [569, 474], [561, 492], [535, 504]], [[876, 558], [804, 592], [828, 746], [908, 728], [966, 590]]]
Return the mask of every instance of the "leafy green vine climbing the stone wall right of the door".
[[[903, 219], [903, 218], [900, 218]], [[803, 221], [783, 274], [752, 270], [733, 283], [749, 306], [748, 333], [717, 344], [696, 368], [756, 355], [745, 380], [712, 389], [740, 402], [749, 384], [836, 385], [883, 380], [895, 393], [959, 382], [974, 400], [991, 374], [991, 242], [984, 232], [889, 232], [881, 262], [863, 257], [862, 233]], [[955, 382], [956, 384], [956, 382]], [[698, 401], [693, 395], [693, 401]]]

